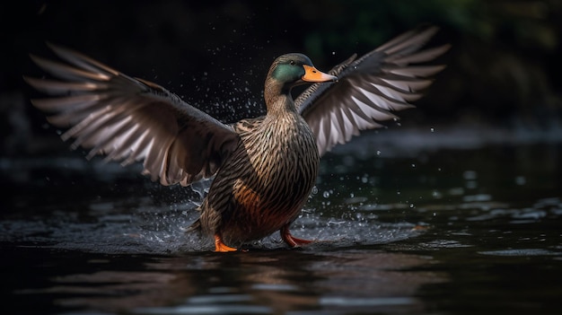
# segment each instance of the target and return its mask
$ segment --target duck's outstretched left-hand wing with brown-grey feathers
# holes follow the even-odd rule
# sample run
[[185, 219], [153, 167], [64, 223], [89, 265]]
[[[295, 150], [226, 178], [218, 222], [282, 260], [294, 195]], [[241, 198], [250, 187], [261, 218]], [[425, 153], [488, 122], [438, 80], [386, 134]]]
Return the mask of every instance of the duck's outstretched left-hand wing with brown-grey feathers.
[[31, 56], [59, 80], [24, 78], [53, 95], [32, 100], [54, 114], [48, 122], [69, 128], [63, 140], [123, 165], [144, 161], [143, 173], [162, 185], [213, 176], [239, 137], [205, 112], [155, 83], [122, 74], [75, 51], [49, 45], [65, 63]]

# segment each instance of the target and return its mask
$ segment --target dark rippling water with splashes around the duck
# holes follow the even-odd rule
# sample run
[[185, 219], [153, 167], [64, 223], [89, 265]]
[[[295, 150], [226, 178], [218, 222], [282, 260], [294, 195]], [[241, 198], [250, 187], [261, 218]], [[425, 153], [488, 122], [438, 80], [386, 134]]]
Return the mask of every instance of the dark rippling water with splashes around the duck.
[[325, 156], [293, 229], [319, 242], [229, 254], [186, 234], [198, 192], [80, 154], [4, 159], [2, 313], [562, 313], [559, 139], [426, 134]]

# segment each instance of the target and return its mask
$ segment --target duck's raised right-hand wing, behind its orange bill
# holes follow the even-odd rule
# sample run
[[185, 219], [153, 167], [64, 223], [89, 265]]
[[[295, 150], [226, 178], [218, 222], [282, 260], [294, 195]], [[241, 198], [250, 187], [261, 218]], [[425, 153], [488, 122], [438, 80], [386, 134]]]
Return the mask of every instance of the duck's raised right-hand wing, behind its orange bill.
[[444, 66], [417, 66], [442, 55], [449, 45], [420, 50], [437, 28], [408, 31], [370, 53], [356, 55], [329, 74], [336, 83], [315, 83], [294, 101], [316, 135], [321, 154], [347, 143], [360, 130], [382, 127], [377, 121], [397, 118], [391, 111], [413, 107]]

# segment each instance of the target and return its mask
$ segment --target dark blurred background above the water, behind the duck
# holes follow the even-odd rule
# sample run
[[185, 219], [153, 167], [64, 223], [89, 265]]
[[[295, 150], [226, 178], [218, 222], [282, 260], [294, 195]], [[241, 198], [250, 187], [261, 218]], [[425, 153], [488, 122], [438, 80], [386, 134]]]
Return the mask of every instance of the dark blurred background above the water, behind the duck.
[[[56, 130], [31, 107], [22, 75], [46, 41], [82, 51], [179, 94], [224, 121], [263, 113], [268, 66], [303, 52], [327, 71], [421, 23], [441, 27], [452, 50], [408, 126], [559, 130], [562, 2], [426, 1], [20, 1], [0, 4], [0, 150], [60, 152]], [[53, 140], [54, 139], [54, 140]], [[66, 150], [63, 150], [66, 152]]]

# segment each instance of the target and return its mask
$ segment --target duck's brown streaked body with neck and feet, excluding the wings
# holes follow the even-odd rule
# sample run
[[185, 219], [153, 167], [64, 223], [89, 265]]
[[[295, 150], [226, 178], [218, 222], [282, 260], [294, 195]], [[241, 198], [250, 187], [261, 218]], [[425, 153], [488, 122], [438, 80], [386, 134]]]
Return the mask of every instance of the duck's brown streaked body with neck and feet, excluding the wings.
[[[305, 73], [295, 74], [288, 83], [275, 77], [277, 66], [292, 67], [288, 62], [312, 65], [300, 54], [277, 58], [265, 83], [267, 115], [233, 125], [240, 141], [224, 161], [225, 167], [217, 171], [201, 206], [196, 226], [215, 235], [217, 250], [228, 249], [224, 243], [240, 245], [276, 231], [291, 246], [308, 242], [294, 238], [288, 227], [311, 193], [320, 154], [311, 128], [289, 94]], [[323, 74], [316, 80], [336, 77]]]

